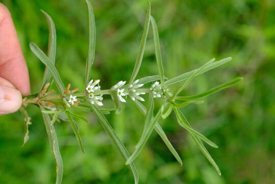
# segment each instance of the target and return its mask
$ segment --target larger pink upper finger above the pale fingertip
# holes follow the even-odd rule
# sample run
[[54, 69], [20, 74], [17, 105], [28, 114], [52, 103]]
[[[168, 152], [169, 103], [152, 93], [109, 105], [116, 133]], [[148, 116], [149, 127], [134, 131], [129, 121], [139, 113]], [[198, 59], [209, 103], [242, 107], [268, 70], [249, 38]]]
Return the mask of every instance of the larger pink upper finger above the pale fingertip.
[[10, 81], [23, 95], [30, 93], [27, 64], [21, 51], [9, 10], [0, 3], [0, 77]]

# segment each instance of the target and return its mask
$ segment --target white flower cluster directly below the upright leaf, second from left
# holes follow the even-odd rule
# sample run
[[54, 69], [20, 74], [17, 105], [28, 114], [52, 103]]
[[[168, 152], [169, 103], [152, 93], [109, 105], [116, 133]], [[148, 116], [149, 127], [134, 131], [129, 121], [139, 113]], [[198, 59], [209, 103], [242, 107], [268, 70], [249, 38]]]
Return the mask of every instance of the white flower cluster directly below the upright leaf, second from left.
[[91, 80], [87, 87], [86, 87], [86, 90], [88, 92], [88, 97], [89, 97], [89, 101], [91, 104], [97, 104], [99, 106], [102, 106], [103, 103], [103, 95], [95, 95], [94, 92], [95, 91], [99, 91], [101, 90], [101, 86], [99, 86], [99, 82], [100, 80], [97, 79], [95, 81]]

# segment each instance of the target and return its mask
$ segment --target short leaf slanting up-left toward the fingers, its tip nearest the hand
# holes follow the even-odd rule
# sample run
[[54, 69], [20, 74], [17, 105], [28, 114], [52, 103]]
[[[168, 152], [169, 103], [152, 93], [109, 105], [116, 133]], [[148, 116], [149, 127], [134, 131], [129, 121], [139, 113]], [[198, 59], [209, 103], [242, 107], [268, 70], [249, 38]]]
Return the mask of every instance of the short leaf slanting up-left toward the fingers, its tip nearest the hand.
[[36, 55], [36, 57], [38, 57], [40, 61], [42, 61], [42, 63], [46, 65], [46, 67], [48, 68], [49, 72], [52, 74], [56, 82], [59, 92], [63, 94], [65, 87], [53, 62], [43, 53], [43, 51], [41, 51], [38, 48], [38, 46], [35, 43], [31, 42], [30, 48], [33, 51], [33, 53]]

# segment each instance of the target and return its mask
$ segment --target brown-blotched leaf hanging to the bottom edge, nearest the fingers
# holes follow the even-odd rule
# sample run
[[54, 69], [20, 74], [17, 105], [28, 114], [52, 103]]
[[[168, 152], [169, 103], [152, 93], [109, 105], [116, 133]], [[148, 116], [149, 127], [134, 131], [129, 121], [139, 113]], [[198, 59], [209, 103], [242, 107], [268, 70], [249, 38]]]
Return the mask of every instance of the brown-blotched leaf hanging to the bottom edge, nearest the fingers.
[[[42, 106], [40, 106], [41, 110], [45, 110]], [[46, 127], [49, 144], [51, 145], [55, 160], [56, 160], [56, 184], [61, 184], [63, 177], [63, 162], [62, 157], [59, 151], [59, 145], [57, 140], [57, 134], [54, 125], [51, 123], [51, 119], [48, 114], [42, 113], [42, 117], [44, 120], [44, 124]]]

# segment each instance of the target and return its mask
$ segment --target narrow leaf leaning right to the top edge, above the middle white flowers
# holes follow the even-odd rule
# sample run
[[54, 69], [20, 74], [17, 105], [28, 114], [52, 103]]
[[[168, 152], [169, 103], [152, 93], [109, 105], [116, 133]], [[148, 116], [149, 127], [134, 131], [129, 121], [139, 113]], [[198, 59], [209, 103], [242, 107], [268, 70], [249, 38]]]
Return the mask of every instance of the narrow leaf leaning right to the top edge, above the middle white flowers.
[[143, 58], [143, 54], [144, 54], [144, 50], [145, 50], [146, 39], [147, 39], [147, 35], [148, 35], [148, 30], [149, 30], [149, 25], [150, 25], [150, 16], [151, 16], [151, 4], [150, 4], [150, 2], [148, 2], [147, 14], [146, 14], [143, 33], [142, 33], [142, 38], [140, 41], [139, 52], [138, 52], [138, 56], [136, 59], [136, 63], [135, 63], [134, 70], [133, 70], [132, 76], [130, 78], [129, 84], [132, 84], [134, 82], [134, 80], [138, 74], [141, 62], [142, 62], [142, 58]]

